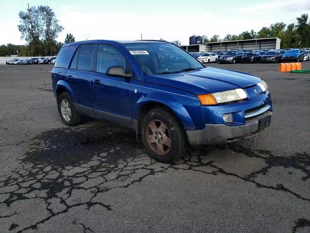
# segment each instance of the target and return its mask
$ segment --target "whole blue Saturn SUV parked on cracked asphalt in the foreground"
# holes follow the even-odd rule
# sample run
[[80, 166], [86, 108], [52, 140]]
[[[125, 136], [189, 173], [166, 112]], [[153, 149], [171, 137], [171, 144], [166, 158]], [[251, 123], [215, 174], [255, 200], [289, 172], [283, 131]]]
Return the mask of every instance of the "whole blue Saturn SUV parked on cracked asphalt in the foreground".
[[272, 115], [268, 86], [259, 77], [205, 67], [163, 41], [65, 44], [52, 86], [65, 125], [78, 125], [86, 115], [129, 127], [165, 163], [184, 156], [188, 145], [257, 135]]

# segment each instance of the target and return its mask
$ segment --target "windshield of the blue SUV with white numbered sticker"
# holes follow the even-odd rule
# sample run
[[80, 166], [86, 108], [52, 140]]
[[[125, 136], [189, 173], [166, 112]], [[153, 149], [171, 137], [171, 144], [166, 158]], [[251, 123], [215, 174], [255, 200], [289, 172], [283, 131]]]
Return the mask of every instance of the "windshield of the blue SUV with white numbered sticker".
[[185, 50], [170, 43], [133, 43], [124, 47], [146, 74], [169, 74], [201, 69], [204, 66]]

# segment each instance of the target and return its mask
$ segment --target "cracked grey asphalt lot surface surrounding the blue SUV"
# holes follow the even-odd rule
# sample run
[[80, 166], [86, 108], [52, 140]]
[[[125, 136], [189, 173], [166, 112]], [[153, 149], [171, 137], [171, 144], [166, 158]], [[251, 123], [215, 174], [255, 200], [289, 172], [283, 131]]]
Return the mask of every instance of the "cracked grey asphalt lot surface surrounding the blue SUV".
[[310, 74], [210, 66], [263, 78], [271, 126], [162, 164], [130, 130], [64, 126], [51, 65], [0, 65], [0, 232], [309, 233]]

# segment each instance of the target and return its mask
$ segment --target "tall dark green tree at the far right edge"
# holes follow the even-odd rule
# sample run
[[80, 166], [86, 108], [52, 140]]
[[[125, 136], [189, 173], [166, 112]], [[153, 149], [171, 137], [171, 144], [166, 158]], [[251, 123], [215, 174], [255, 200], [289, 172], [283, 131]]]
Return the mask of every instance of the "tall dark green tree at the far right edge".
[[299, 35], [298, 45], [300, 48], [310, 47], [310, 23], [308, 21], [308, 14], [302, 14], [297, 17], [296, 30]]

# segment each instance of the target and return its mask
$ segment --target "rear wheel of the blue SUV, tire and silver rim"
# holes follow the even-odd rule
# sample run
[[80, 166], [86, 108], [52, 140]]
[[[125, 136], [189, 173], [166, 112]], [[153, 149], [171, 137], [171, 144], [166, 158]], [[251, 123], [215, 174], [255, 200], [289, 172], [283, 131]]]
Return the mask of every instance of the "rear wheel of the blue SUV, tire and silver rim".
[[[68, 104], [67, 106], [66, 106], [66, 103]], [[82, 116], [78, 114], [76, 108], [74, 107], [73, 101], [67, 92], [63, 92], [57, 98], [57, 107], [58, 107], [59, 115], [62, 118], [63, 124], [69, 125], [69, 126], [76, 126], [81, 123]], [[66, 108], [63, 108], [63, 107], [66, 107]], [[66, 109], [68, 109], [68, 111]], [[71, 116], [65, 118], [64, 113], [66, 113], [65, 116], [69, 116], [71, 113]]]

